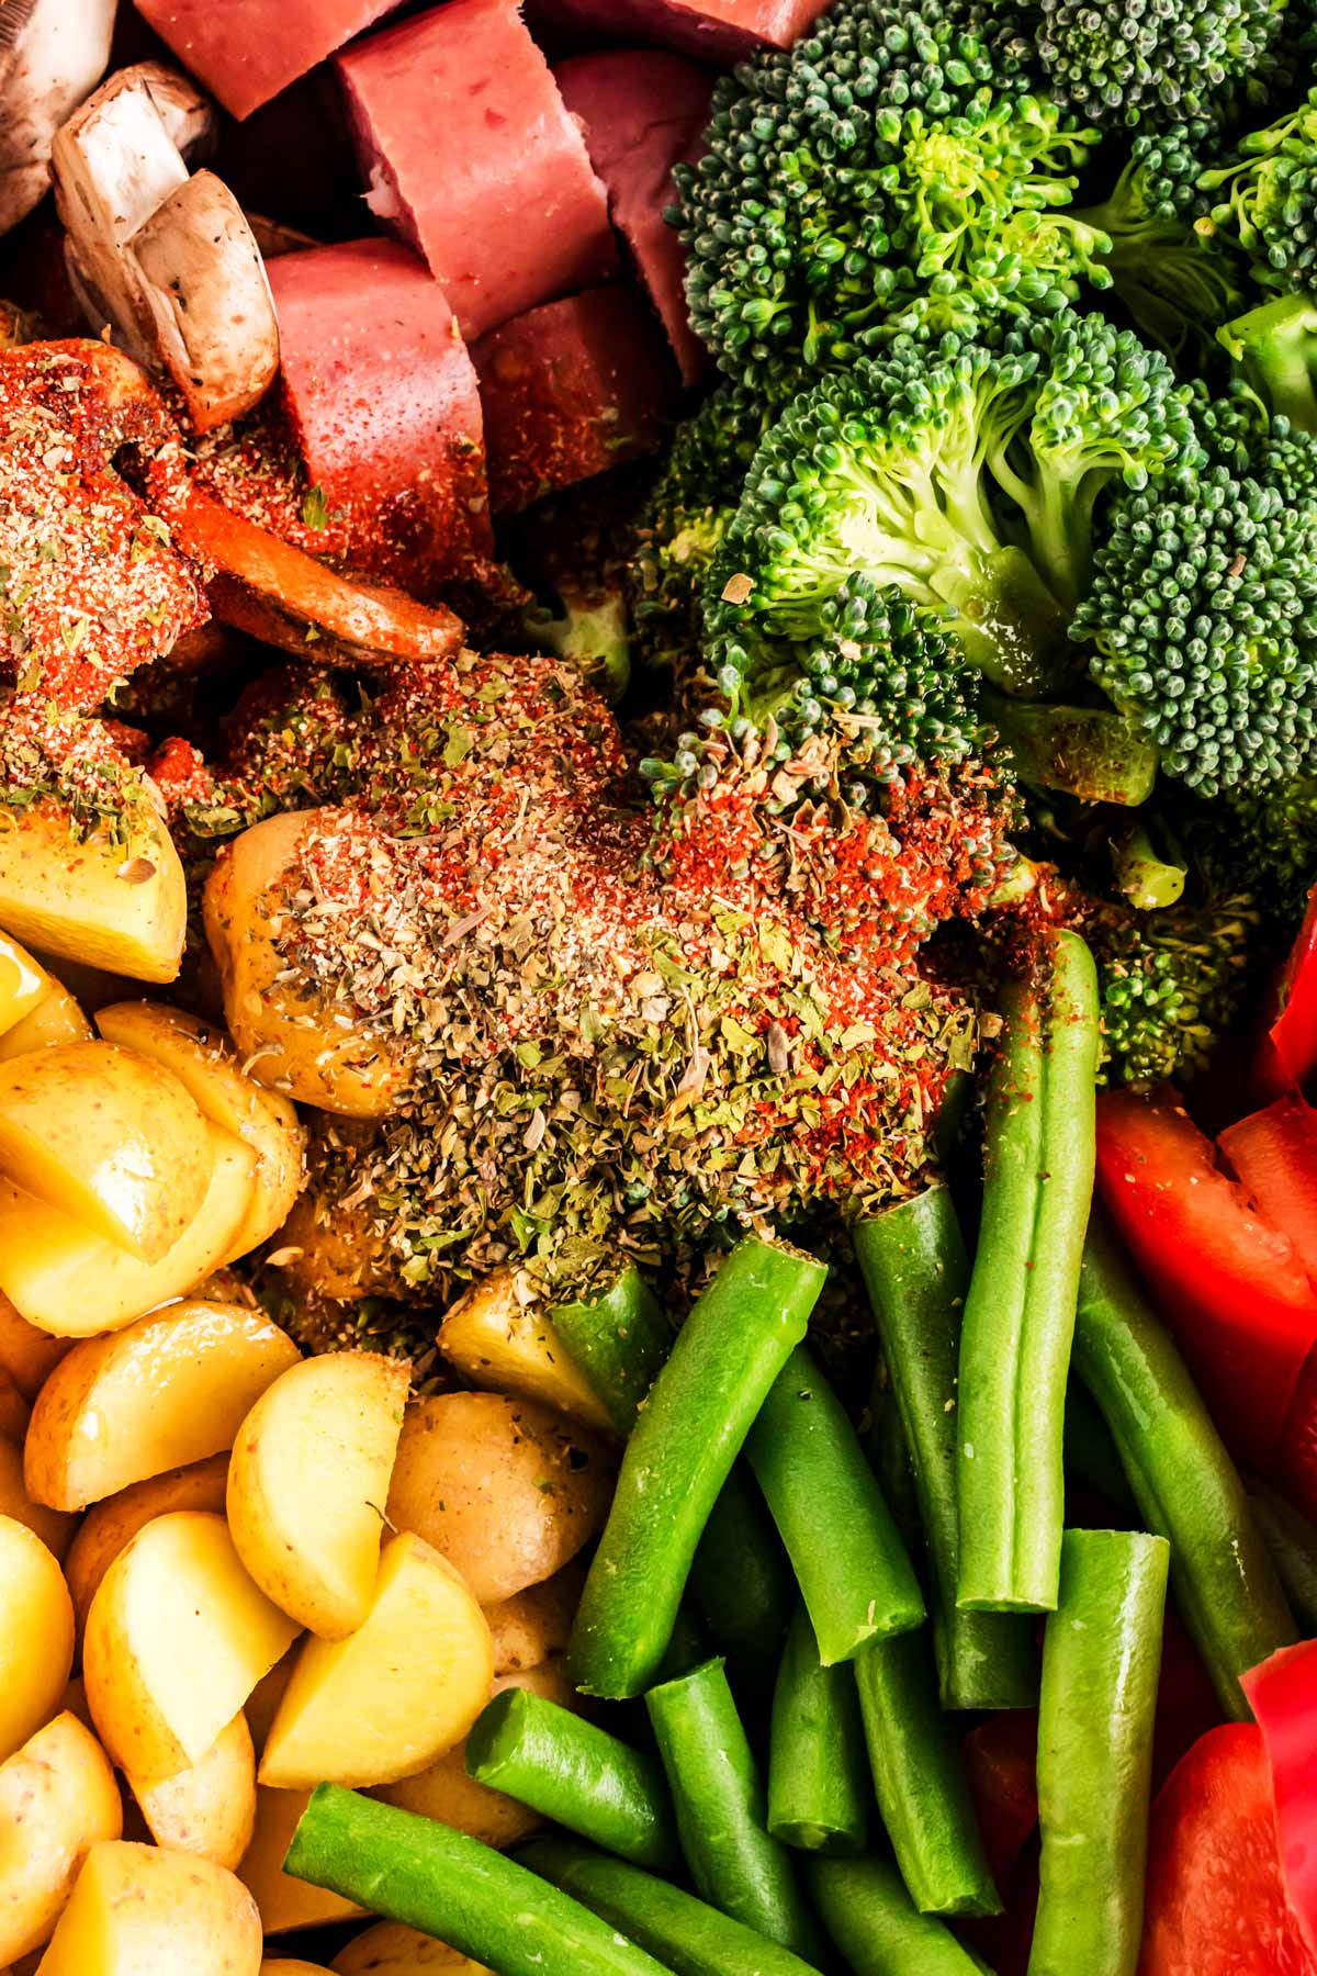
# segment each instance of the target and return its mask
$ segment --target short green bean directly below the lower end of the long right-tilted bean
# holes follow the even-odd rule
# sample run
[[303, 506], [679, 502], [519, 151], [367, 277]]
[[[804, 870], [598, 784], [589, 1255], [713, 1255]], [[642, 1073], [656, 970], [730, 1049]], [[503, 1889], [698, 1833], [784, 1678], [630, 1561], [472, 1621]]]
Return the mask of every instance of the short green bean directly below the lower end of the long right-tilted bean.
[[677, 1836], [695, 1891], [733, 1921], [798, 1956], [817, 1929], [786, 1846], [768, 1836], [768, 1806], [721, 1660], [646, 1695]]

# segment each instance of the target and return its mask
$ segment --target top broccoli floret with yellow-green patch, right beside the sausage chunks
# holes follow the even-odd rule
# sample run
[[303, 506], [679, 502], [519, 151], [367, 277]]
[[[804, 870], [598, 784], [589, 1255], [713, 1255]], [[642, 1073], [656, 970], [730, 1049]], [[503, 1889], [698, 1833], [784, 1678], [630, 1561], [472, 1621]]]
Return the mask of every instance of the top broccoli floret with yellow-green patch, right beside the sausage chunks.
[[835, 0], [719, 83], [677, 168], [691, 320], [754, 387], [873, 336], [1056, 310], [1106, 239], [1062, 207], [1098, 132], [1033, 89], [1001, 8]]

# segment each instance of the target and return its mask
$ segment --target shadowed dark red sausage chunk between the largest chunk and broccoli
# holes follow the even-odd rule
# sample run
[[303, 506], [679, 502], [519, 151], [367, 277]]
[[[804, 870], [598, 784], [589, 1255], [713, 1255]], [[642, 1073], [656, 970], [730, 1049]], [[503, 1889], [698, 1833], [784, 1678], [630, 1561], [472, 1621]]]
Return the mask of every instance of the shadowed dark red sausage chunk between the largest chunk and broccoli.
[[618, 47], [573, 55], [555, 71], [563, 103], [581, 119], [590, 164], [608, 190], [612, 223], [636, 257], [685, 383], [695, 383], [709, 352], [685, 308], [685, 249], [663, 219], [677, 188], [671, 168], [687, 156], [709, 119], [713, 77], [681, 55]]

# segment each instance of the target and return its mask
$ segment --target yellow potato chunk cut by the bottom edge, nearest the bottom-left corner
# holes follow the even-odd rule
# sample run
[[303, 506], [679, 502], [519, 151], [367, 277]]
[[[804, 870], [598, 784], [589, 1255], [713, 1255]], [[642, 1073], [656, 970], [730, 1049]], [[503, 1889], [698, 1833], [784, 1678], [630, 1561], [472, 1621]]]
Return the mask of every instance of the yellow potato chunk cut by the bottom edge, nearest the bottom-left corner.
[[261, 1917], [243, 1883], [195, 1853], [103, 1840], [41, 1976], [261, 1976]]

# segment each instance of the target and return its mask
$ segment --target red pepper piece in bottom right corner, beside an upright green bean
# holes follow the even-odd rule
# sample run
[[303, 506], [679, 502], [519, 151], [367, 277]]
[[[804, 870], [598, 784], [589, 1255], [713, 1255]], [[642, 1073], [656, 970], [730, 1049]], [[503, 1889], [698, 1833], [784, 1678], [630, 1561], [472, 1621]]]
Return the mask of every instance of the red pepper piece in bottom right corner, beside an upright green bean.
[[1157, 1794], [1139, 1976], [1317, 1976], [1285, 1899], [1256, 1723], [1210, 1729]]

